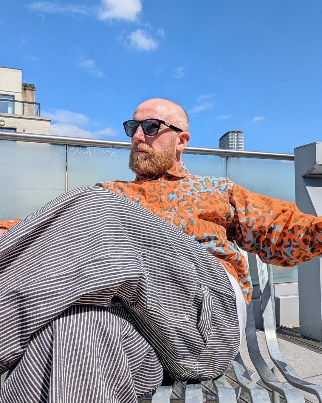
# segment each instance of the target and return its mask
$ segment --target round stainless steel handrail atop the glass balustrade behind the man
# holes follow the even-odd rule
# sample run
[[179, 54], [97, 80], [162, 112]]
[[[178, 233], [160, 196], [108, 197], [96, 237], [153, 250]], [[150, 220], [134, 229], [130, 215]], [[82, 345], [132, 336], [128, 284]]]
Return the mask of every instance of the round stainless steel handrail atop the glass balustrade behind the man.
[[[45, 134], [0, 132], [0, 140], [27, 141], [32, 143], [50, 143], [63, 145], [80, 145], [83, 147], [121, 148], [129, 150], [130, 141], [84, 139], [82, 137], [52, 136]], [[294, 161], [294, 154], [281, 154], [260, 151], [225, 150], [221, 148], [187, 147], [186, 154], [217, 155], [223, 157], [264, 158], [268, 160]]]

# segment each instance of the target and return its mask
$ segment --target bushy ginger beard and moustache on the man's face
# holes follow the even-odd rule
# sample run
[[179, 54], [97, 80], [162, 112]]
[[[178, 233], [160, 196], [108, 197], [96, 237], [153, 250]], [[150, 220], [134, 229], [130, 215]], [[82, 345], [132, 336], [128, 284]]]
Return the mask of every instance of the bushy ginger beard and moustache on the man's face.
[[[163, 174], [176, 162], [175, 137], [171, 137], [159, 151], [153, 150], [146, 143], [134, 143], [128, 163], [130, 170], [137, 175], [147, 175], [148, 177]], [[136, 150], [145, 152], [137, 153]]]

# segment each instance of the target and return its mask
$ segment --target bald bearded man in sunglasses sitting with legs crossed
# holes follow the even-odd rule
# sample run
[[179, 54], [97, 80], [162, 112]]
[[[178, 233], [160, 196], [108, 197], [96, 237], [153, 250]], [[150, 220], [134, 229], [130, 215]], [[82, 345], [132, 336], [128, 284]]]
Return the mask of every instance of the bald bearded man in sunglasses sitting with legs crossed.
[[322, 252], [320, 218], [190, 175], [178, 104], [143, 102], [124, 129], [134, 182], [67, 192], [0, 238], [0, 402], [134, 402], [160, 363], [178, 380], [219, 376], [252, 290], [233, 240], [283, 266]]

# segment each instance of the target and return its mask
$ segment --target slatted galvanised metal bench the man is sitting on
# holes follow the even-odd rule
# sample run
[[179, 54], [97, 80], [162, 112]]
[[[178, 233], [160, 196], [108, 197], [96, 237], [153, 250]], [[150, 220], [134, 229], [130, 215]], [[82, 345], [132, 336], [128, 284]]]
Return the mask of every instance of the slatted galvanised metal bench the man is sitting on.
[[[248, 261], [248, 253], [241, 250]], [[186, 403], [202, 403], [205, 401], [218, 401], [219, 403], [232, 403], [237, 402], [242, 391], [248, 393], [252, 402], [268, 403], [270, 397], [268, 391], [256, 383], [262, 380], [265, 386], [272, 390], [272, 402], [277, 403], [280, 401], [280, 395], [283, 396], [287, 403], [304, 403], [304, 397], [301, 390], [312, 393], [322, 403], [322, 386], [312, 384], [303, 380], [295, 370], [284, 359], [279, 346], [277, 344], [276, 326], [275, 326], [275, 304], [274, 304], [274, 289], [273, 289], [273, 274], [272, 266], [264, 264], [258, 256], [256, 256], [259, 288], [260, 288], [260, 304], [262, 307], [262, 316], [264, 324], [264, 334], [268, 353], [270, 359], [266, 362], [260, 353], [258, 347], [254, 309], [251, 302], [247, 308], [247, 323], [246, 323], [246, 341], [248, 346], [248, 353], [250, 359], [256, 368], [256, 372], [249, 374], [240, 353], [237, 354], [232, 363], [232, 368], [237, 379], [238, 387], [233, 388], [227, 381], [225, 374], [220, 378], [212, 381], [202, 382], [205, 386], [206, 383], [212, 382], [216, 392], [216, 396], [207, 399], [204, 397], [205, 393], [202, 389], [202, 384], [182, 384], [178, 388], [178, 383], [175, 382], [171, 385], [159, 386], [152, 395], [152, 403], [168, 403], [170, 401], [184, 401]], [[284, 376], [287, 383], [282, 383], [278, 380], [278, 372]], [[174, 388], [177, 391], [182, 391], [181, 396], [176, 393], [171, 398], [171, 393]], [[205, 389], [205, 388], [204, 388]], [[142, 400], [146, 398], [142, 398]]]

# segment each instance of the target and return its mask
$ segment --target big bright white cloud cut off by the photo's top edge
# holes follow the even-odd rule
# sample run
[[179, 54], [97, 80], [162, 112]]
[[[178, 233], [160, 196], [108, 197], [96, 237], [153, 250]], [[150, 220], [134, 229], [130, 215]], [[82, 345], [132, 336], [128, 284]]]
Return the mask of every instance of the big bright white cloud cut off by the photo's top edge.
[[142, 10], [142, 0], [101, 0], [98, 18], [135, 21]]

